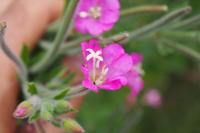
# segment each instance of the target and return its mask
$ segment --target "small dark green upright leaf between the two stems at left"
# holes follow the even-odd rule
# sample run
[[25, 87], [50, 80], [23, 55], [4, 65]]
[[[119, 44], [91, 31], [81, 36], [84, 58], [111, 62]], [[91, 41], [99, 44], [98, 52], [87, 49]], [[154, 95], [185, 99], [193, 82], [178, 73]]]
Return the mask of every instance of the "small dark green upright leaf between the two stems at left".
[[27, 44], [23, 44], [22, 49], [21, 49], [21, 54], [20, 54], [21, 59], [23, 60], [24, 64], [26, 66], [29, 66], [30, 64], [30, 53], [29, 53], [29, 48]]

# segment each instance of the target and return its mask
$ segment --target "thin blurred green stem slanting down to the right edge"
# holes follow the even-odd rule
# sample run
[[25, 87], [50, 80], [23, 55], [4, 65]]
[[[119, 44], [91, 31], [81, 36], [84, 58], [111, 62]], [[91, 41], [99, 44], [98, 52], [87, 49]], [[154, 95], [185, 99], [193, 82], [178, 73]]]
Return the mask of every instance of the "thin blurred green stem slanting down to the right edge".
[[171, 41], [169, 39], [162, 38], [161, 42], [163, 42], [167, 46], [174, 48], [174, 49], [180, 51], [181, 53], [188, 55], [188, 56], [192, 57], [193, 59], [197, 60], [198, 62], [200, 62], [200, 53], [192, 50], [191, 48], [185, 47], [182, 44]]

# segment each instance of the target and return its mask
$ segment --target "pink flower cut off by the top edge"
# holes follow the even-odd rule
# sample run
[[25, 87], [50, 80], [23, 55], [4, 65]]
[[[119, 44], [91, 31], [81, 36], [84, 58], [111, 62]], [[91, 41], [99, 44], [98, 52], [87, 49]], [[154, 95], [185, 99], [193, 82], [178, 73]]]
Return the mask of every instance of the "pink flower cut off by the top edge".
[[100, 35], [117, 22], [119, 9], [119, 0], [80, 0], [75, 14], [75, 27], [83, 34]]

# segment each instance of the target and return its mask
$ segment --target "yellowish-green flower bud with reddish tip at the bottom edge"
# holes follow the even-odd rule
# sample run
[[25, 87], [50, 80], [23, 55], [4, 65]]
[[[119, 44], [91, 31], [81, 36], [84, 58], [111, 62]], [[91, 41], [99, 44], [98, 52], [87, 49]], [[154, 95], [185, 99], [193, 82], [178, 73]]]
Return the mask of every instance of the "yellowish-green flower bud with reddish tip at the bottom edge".
[[63, 120], [63, 128], [67, 132], [84, 133], [84, 129], [73, 119]]

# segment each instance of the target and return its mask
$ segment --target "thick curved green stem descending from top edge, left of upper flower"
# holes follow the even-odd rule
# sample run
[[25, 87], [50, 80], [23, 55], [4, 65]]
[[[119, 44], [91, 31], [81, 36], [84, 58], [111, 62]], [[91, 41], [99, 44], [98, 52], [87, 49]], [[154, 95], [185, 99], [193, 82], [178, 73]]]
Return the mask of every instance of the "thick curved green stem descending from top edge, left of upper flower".
[[47, 51], [47, 54], [44, 56], [44, 58], [39, 61], [37, 64], [35, 64], [30, 72], [31, 73], [38, 73], [40, 71], [43, 71], [53, 63], [53, 57], [58, 54], [58, 50], [64, 41], [66, 39], [66, 33], [68, 30], [70, 30], [70, 23], [76, 8], [76, 5], [78, 3], [78, 0], [71, 0], [69, 2], [68, 8], [65, 11], [64, 17], [63, 17], [63, 22], [62, 25], [60, 26], [60, 29], [56, 35], [56, 38], [53, 42], [53, 46]]

